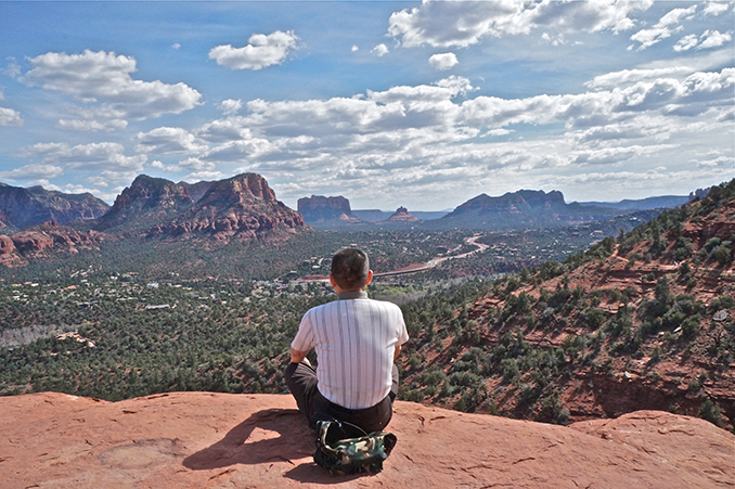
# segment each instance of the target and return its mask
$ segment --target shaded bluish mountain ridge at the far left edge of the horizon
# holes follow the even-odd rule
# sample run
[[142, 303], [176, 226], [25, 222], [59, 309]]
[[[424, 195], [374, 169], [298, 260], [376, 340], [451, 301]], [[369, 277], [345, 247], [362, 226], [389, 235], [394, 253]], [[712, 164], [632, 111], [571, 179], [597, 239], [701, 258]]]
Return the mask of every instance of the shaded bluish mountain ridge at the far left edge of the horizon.
[[65, 194], [41, 186], [12, 186], [0, 183], [0, 230], [17, 231], [54, 220], [60, 224], [95, 219], [109, 206], [90, 193]]

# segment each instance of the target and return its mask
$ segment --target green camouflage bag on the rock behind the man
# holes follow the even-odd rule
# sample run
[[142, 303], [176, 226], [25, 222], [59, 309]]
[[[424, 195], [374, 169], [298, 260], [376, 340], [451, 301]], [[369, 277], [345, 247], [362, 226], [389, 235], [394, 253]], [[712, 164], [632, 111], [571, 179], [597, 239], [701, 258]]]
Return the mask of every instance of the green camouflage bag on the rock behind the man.
[[[363, 436], [346, 437], [346, 434], [356, 430], [362, 432]], [[373, 432], [368, 435], [358, 426], [337, 420], [318, 421], [317, 434], [314, 462], [333, 476], [361, 472], [377, 474], [398, 441], [392, 433]]]

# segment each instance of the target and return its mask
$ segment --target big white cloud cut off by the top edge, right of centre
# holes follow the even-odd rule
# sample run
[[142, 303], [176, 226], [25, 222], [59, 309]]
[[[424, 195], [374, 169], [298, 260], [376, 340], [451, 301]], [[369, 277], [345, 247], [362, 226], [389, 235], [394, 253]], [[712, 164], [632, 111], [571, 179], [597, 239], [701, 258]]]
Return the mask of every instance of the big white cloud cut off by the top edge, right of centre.
[[485, 37], [527, 35], [534, 28], [559, 31], [627, 30], [635, 10], [647, 10], [653, 0], [640, 2], [552, 1], [461, 2], [425, 0], [421, 7], [390, 15], [388, 33], [407, 48], [463, 48]]

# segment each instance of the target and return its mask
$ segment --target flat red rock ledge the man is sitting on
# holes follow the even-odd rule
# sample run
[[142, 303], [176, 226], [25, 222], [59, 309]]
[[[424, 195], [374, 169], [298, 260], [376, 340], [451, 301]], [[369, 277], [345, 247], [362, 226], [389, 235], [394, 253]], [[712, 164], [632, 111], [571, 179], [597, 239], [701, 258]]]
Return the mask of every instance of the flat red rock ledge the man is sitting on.
[[330, 477], [291, 396], [0, 398], [0, 480], [28, 487], [730, 488], [735, 436], [641, 411], [568, 427], [397, 402], [375, 476]]

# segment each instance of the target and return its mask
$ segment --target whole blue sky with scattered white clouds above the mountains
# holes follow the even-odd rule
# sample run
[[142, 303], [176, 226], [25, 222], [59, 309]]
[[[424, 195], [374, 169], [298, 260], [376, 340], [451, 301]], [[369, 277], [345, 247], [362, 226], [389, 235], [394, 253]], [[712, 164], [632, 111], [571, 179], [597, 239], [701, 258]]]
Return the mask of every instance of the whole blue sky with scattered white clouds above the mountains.
[[0, 181], [262, 175], [296, 208], [735, 177], [732, 1], [0, 0]]

